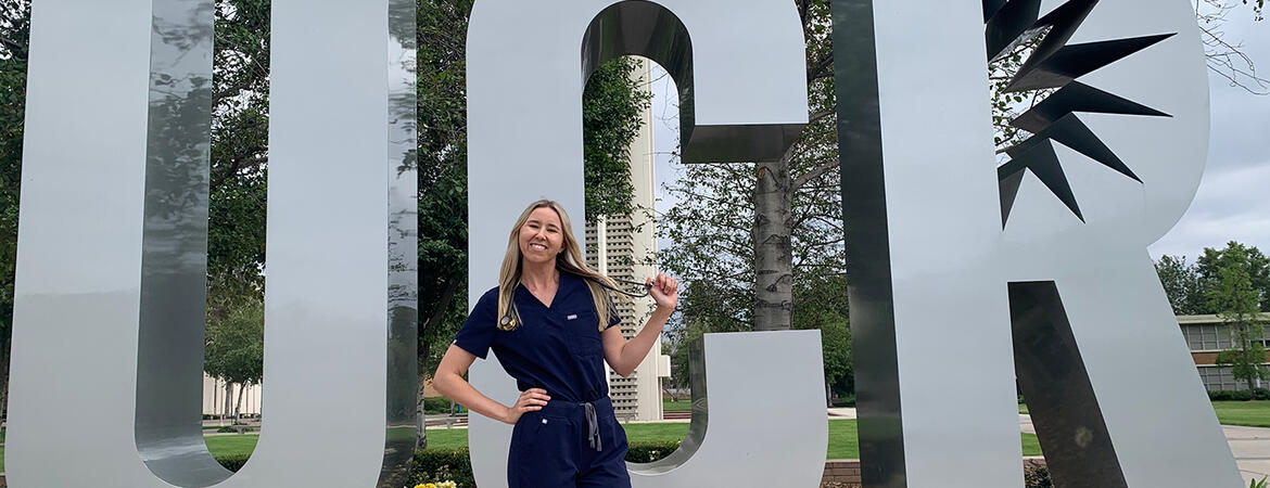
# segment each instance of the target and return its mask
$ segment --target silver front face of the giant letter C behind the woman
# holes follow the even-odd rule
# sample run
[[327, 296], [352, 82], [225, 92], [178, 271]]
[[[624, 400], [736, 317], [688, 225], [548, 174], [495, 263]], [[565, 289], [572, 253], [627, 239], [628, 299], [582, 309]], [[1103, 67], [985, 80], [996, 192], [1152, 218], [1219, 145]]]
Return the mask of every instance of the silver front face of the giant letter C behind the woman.
[[[805, 46], [798, 10], [787, 0], [744, 5], [734, 0], [479, 0], [467, 33], [470, 304], [495, 284], [504, 251], [499, 242], [505, 242], [507, 229], [525, 203], [546, 196], [574, 215], [583, 214], [582, 91], [592, 70], [621, 55], [649, 57], [674, 77], [683, 110], [685, 161], [779, 157], [806, 124]], [[583, 241], [584, 236], [577, 238]], [[753, 340], [776, 337], [758, 335]], [[730, 347], [743, 342], [723, 341], [714, 350], [707, 340], [706, 357], [725, 361], [735, 356]], [[775, 361], [766, 364], [780, 373], [775, 383], [787, 383], [782, 388], [805, 388], [790, 390], [785, 398], [815, 399], [817, 413], [809, 418], [820, 423], [806, 431], [782, 427], [795, 435], [773, 437], [766, 447], [785, 454], [745, 458], [748, 466], [740, 469], [737, 459], [766, 449], [753, 441], [753, 427], [740, 425], [754, 425], [767, 412], [752, 409], [752, 402], [720, 407], [716, 399], [710, 436], [704, 436], [704, 418], [695, 420], [693, 435], [700, 440], [688, 441], [669, 461], [631, 465], [632, 483], [712, 485], [716, 483], [702, 482], [706, 473], [756, 473], [748, 469], [756, 468], [771, 475], [801, 472], [795, 466], [803, 463], [817, 465], [808, 473], [818, 479], [823, 442], [805, 450], [800, 444], [824, 435], [823, 375], [817, 373], [814, 382], [804, 383], [794, 376], [801, 373], [792, 371], [800, 371], [796, 368], [804, 368], [808, 357], [818, 360], [820, 347], [813, 341], [782, 344], [757, 356]], [[516, 384], [497, 365], [497, 357], [474, 364], [469, 378], [476, 389], [503, 404], [516, 401]], [[728, 395], [729, 382], [743, 382], [749, 390], [753, 384], [765, 384], [735, 371], [723, 378], [712, 374], [711, 394]], [[469, 446], [479, 485], [505, 485], [511, 430], [485, 417], [471, 418]], [[758, 435], [776, 432], [759, 430]], [[693, 446], [696, 451], [690, 453]], [[767, 456], [768, 451], [762, 453]], [[762, 478], [739, 484], [751, 485], [756, 479]]]

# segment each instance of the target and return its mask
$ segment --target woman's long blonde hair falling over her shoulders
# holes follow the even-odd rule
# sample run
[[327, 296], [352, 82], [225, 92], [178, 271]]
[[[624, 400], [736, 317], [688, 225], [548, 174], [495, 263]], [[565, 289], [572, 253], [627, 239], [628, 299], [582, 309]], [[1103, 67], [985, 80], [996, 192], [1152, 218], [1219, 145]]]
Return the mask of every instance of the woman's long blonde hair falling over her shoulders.
[[[556, 255], [556, 269], [561, 273], [577, 275], [587, 283], [587, 288], [591, 290], [591, 299], [596, 304], [596, 317], [599, 318], [599, 331], [603, 332], [610, 317], [612, 317], [613, 302], [612, 295], [608, 294], [608, 290], [601, 283], [612, 288], [617, 288], [617, 284], [608, 276], [587, 266], [587, 261], [582, 259], [582, 248], [578, 246], [578, 241], [573, 238], [573, 224], [569, 223], [569, 214], [564, 212], [564, 207], [554, 200], [531, 203], [521, 213], [521, 218], [516, 219], [516, 226], [512, 227], [512, 233], [507, 237], [507, 254], [503, 255], [503, 266], [498, 271], [499, 328], [511, 330], [518, 326], [513, 322], [504, 327], [502, 319], [507, 317], [512, 307], [512, 297], [516, 293], [516, 286], [521, 284], [521, 228], [528, 222], [530, 214], [540, 208], [550, 208], [560, 215], [560, 224], [564, 226], [561, 229], [564, 234], [564, 250]], [[517, 317], [516, 319], [519, 318]]]

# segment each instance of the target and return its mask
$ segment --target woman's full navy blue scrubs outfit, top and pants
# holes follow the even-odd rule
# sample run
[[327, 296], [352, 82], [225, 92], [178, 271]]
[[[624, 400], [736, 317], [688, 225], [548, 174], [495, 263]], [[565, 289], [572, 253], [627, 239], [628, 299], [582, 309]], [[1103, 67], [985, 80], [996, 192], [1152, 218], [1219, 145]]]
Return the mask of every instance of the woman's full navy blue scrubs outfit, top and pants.
[[[561, 271], [550, 307], [523, 285], [513, 299], [519, 327], [497, 327], [495, 286], [476, 302], [453, 341], [480, 359], [493, 349], [517, 389], [542, 388], [551, 397], [512, 428], [508, 485], [630, 487], [626, 432], [608, 398], [599, 321], [584, 279]], [[621, 322], [616, 312], [610, 317], [606, 328]]]

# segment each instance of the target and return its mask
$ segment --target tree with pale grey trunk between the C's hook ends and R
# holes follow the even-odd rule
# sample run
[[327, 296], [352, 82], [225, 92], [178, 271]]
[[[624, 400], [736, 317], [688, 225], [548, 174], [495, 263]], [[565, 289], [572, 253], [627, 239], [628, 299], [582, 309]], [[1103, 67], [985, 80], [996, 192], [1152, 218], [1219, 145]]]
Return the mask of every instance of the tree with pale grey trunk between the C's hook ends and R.
[[845, 273], [829, 6], [798, 9], [810, 106], [801, 137], [777, 161], [688, 165], [665, 188], [679, 204], [660, 215], [659, 237], [674, 245], [658, 260], [687, 283], [712, 283], [716, 304], [700, 308], [723, 314], [709, 323], [730, 323], [732, 314], [745, 330], [789, 330], [801, 313], [799, 276]]

